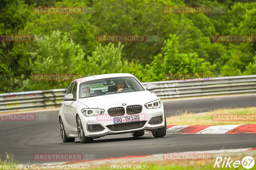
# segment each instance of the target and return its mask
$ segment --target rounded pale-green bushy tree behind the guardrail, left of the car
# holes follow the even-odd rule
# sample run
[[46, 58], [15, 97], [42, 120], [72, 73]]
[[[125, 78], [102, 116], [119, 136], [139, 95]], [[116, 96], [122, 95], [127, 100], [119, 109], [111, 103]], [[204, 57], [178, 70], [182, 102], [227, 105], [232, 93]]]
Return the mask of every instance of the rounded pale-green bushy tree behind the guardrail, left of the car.
[[72, 41], [67, 33], [53, 31], [36, 43], [37, 50], [31, 53], [29, 65], [31, 76], [24, 80], [26, 90], [67, 88], [72, 81], [35, 81], [34, 74], [83, 74], [86, 75], [84, 52], [79, 44]]

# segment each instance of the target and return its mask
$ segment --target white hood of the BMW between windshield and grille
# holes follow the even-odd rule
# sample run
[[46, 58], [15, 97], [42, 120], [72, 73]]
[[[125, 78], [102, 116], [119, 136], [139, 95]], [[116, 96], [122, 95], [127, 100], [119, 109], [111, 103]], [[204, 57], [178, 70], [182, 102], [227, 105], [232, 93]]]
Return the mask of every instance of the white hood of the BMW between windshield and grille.
[[102, 96], [93, 96], [77, 99], [77, 102], [85, 104], [88, 108], [99, 108], [108, 105], [115, 105], [119, 103], [134, 103], [146, 104], [148, 102], [156, 100], [155, 94], [149, 92], [148, 90], [136, 91], [136, 92], [126, 92], [126, 93], [116, 93]]

